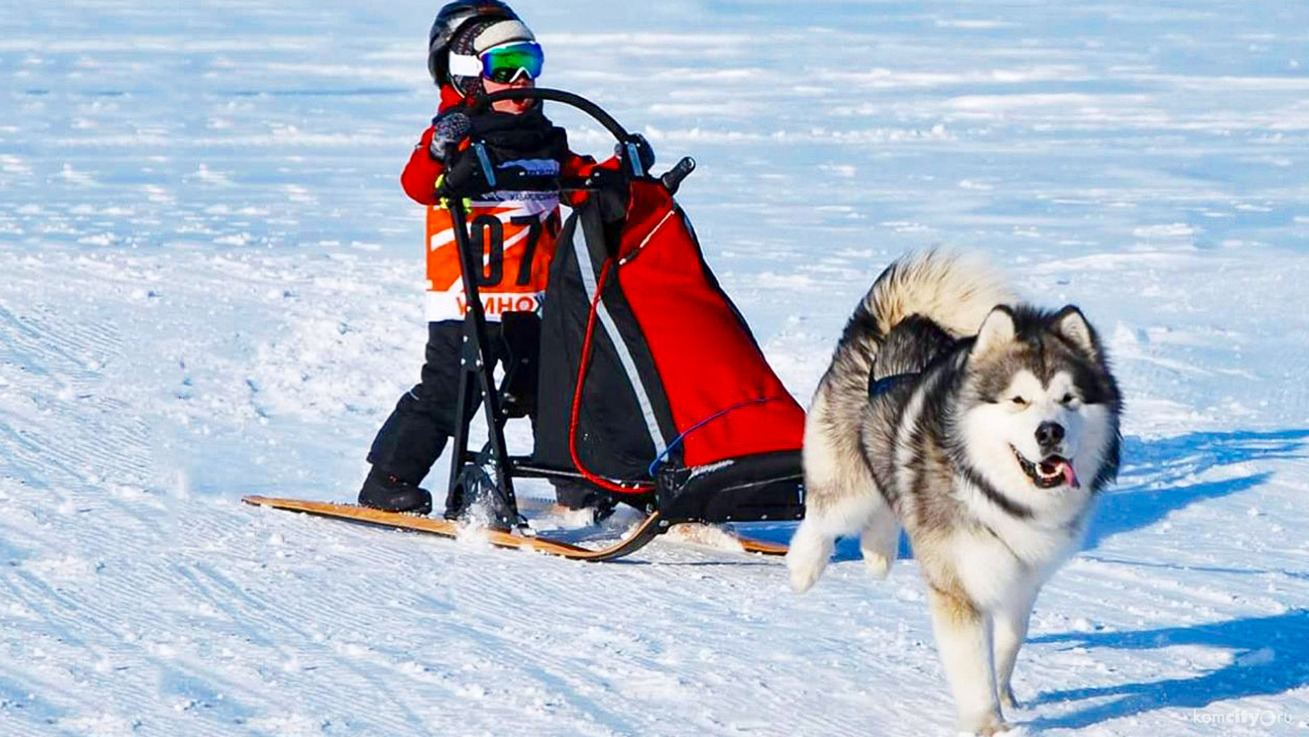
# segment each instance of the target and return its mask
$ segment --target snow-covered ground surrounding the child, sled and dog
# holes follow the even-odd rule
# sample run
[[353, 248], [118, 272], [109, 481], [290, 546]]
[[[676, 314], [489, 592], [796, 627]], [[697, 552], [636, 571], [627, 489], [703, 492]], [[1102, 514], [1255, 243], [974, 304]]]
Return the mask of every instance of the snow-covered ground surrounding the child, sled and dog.
[[[912, 560], [874, 583], [843, 547], [796, 597], [724, 551], [586, 566], [238, 503], [352, 499], [416, 378], [397, 177], [436, 5], [0, 7], [0, 734], [949, 733]], [[912, 247], [1109, 338], [1126, 467], [1012, 717], [1309, 728], [1309, 5], [520, 10], [543, 82], [698, 157], [681, 199], [797, 397]]]

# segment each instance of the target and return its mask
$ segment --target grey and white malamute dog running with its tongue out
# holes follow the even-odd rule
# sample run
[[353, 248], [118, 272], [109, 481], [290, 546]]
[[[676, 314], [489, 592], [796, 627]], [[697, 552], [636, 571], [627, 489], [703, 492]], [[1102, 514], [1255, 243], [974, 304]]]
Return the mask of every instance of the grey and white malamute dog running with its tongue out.
[[901, 258], [855, 310], [814, 395], [793, 588], [814, 585], [842, 535], [860, 534], [865, 563], [886, 576], [903, 526], [958, 727], [1004, 732], [1037, 592], [1118, 470], [1121, 408], [1077, 308], [1014, 304], [971, 259]]

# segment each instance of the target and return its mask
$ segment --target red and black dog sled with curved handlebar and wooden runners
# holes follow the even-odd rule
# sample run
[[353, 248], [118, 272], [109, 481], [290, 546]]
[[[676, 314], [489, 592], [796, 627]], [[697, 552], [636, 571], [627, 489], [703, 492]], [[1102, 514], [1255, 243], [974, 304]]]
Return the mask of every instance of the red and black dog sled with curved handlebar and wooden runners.
[[[513, 89], [482, 105], [529, 98], [563, 102], [594, 118], [619, 141], [619, 171], [560, 182], [580, 202], [559, 233], [539, 319], [535, 313], [503, 315], [499, 352], [508, 359], [500, 385], [479, 288], [508, 278], [495, 262], [505, 245], [496, 242], [496, 228], [470, 228], [462, 199], [467, 191], [442, 191], [467, 297], [462, 411], [445, 520], [295, 500], [245, 501], [444, 537], [454, 537], [456, 520], [476, 511], [492, 521], [493, 545], [584, 560], [631, 554], [681, 522], [801, 518], [804, 410], [719, 287], [673, 199], [695, 162], [683, 158], [652, 177], [641, 165], [639, 139], [572, 93]], [[479, 157], [483, 181], [493, 186], [495, 170], [480, 149]], [[533, 453], [511, 457], [504, 425], [533, 408]], [[478, 411], [487, 441], [473, 450], [469, 429]], [[535, 537], [514, 496], [514, 479], [522, 478], [583, 488], [602, 507], [627, 504], [645, 520], [597, 550]], [[747, 546], [784, 552], [780, 546]]]

